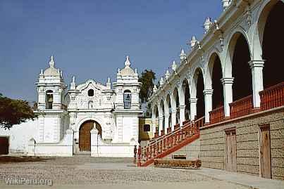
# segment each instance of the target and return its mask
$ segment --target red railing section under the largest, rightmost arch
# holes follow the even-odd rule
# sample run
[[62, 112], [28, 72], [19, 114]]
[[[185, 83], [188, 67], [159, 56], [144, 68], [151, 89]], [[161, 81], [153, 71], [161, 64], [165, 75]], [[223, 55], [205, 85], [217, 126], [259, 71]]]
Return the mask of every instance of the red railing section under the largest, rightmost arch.
[[284, 82], [259, 92], [261, 110], [269, 110], [284, 105]]

